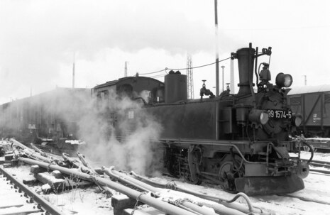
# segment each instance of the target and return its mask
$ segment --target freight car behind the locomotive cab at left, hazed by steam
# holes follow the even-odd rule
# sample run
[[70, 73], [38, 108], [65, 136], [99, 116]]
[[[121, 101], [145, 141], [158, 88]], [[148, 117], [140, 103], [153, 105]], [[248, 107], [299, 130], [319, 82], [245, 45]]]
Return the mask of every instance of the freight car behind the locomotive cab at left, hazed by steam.
[[79, 117], [91, 89], [56, 88], [0, 106], [1, 138], [36, 143], [53, 152], [77, 148]]

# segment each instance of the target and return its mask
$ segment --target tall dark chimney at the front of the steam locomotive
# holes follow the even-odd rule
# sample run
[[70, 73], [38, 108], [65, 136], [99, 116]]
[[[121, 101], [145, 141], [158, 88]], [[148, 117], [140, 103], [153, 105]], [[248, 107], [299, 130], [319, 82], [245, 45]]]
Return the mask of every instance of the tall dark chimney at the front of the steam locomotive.
[[251, 94], [250, 82], [253, 82], [254, 48], [241, 48], [237, 50], [239, 90], [238, 95]]

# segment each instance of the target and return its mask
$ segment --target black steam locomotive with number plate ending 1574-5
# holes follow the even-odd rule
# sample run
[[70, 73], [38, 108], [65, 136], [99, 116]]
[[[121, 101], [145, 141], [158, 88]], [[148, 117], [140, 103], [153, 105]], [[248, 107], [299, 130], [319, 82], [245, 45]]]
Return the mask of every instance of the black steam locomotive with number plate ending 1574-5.
[[[153, 143], [163, 148], [163, 163], [175, 177], [195, 184], [220, 184], [229, 192], [295, 192], [304, 188], [302, 177], [308, 175], [309, 167], [298, 156], [289, 155], [299, 153], [298, 142], [290, 138], [299, 120], [287, 104], [285, 89], [292, 77], [280, 73], [272, 84], [269, 65], [264, 64], [258, 92], [253, 88], [254, 64], [257, 76], [258, 57], [270, 54], [271, 48], [258, 53], [251, 45], [231, 54], [238, 59], [238, 94], [226, 91], [215, 97], [203, 84], [200, 99], [187, 99], [187, 77], [171, 71], [164, 83], [126, 77], [94, 88], [94, 95], [103, 105], [114, 104], [106, 95], [116, 91], [143, 101], [143, 111], [132, 107], [125, 114], [106, 116], [109, 125], [120, 131], [117, 135], [125, 136], [143, 127], [145, 121], [138, 121], [145, 114], [154, 118], [163, 129]], [[143, 91], [148, 92], [148, 99], [140, 96]], [[121, 131], [121, 121], [129, 129]]]

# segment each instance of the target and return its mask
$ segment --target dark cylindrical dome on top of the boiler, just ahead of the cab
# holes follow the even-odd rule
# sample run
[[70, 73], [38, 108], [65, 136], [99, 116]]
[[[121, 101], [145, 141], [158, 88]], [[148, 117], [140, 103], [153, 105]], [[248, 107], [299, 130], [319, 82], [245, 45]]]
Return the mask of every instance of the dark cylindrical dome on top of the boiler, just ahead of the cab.
[[165, 76], [165, 103], [187, 100], [187, 75], [170, 72]]

